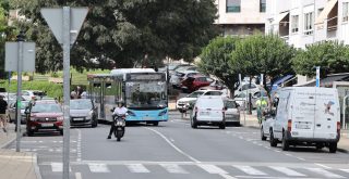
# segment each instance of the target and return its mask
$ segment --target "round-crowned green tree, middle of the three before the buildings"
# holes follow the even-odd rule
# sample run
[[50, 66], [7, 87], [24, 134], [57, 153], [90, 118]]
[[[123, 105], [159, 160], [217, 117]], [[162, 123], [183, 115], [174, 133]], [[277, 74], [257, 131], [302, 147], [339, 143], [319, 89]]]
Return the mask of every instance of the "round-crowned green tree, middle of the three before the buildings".
[[[244, 62], [240, 66], [244, 75], [258, 76], [264, 74], [263, 85], [266, 87], [266, 77], [273, 84], [278, 77], [293, 74], [291, 59], [296, 50], [275, 35], [253, 35], [239, 43], [232, 52], [232, 59]], [[266, 88], [270, 95], [272, 88]]]

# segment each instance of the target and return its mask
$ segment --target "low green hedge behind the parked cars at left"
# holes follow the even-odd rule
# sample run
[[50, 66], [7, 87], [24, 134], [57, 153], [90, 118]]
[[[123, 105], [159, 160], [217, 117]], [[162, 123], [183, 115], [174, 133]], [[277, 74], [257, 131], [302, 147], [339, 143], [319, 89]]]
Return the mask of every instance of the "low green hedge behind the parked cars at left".
[[[8, 80], [1, 80], [0, 87], [7, 88], [9, 92], [16, 92], [17, 81], [11, 80], [10, 90], [8, 89], [9, 87]], [[41, 90], [41, 91], [46, 91], [47, 95], [51, 98], [63, 97], [63, 85], [48, 82], [48, 81], [22, 81], [22, 90]]]

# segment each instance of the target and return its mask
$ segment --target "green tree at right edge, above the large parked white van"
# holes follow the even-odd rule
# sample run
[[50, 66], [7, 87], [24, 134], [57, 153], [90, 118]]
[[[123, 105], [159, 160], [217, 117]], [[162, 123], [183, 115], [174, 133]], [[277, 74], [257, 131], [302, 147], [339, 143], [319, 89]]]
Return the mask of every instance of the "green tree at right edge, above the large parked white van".
[[349, 71], [349, 47], [338, 41], [322, 41], [306, 46], [292, 60], [297, 74], [314, 77], [321, 67], [321, 77]]

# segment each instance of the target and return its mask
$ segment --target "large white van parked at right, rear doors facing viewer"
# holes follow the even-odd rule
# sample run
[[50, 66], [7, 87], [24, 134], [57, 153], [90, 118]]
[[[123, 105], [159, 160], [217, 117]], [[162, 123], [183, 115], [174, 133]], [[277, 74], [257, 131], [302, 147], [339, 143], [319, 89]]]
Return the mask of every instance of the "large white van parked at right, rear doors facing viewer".
[[340, 112], [337, 89], [290, 87], [279, 90], [270, 145], [315, 145], [337, 151], [340, 137]]

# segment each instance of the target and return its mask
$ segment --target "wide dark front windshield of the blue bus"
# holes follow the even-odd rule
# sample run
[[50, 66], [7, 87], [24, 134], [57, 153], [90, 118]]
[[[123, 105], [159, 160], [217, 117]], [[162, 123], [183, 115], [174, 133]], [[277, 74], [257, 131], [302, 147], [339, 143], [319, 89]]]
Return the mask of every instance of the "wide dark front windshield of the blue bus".
[[136, 81], [127, 82], [127, 107], [163, 108], [167, 107], [166, 82]]

